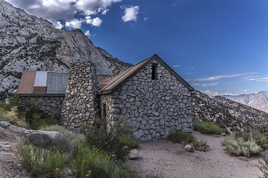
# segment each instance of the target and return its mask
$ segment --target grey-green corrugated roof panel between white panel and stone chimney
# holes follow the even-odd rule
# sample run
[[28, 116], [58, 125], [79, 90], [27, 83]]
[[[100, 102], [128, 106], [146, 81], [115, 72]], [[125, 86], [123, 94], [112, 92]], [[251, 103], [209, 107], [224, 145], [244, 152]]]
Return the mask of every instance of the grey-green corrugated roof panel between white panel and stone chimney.
[[65, 94], [67, 88], [67, 74], [58, 72], [47, 72], [46, 93]]

